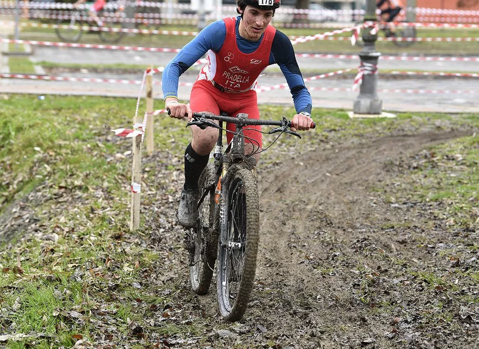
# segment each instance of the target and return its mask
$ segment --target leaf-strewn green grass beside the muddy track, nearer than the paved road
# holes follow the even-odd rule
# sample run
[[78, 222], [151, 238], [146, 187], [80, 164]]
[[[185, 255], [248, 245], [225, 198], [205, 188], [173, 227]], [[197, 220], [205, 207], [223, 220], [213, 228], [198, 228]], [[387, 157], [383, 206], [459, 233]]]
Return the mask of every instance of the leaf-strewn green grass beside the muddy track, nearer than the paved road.
[[[136, 100], [47, 96], [42, 101], [30, 95], [6, 97], [0, 119], [0, 214], [26, 200], [34, 208], [32, 222], [37, 222], [35, 226], [43, 234], [29, 234], [29, 223], [17, 227], [13, 240], [0, 243], [0, 323], [3, 329], [13, 328], [15, 333], [31, 336], [19, 342], [9, 341], [7, 347], [28, 346], [32, 341], [39, 348], [70, 347], [79, 338], [94, 342], [101, 336], [134, 339], [140, 336], [139, 330], [132, 330], [136, 329], [134, 323], [147, 335], [201, 336], [205, 326], [210, 326], [207, 318], [197, 318], [195, 322], [168, 320], [182, 311], [182, 303], [192, 302], [190, 293], [177, 297], [182, 298], [181, 302], [174, 298], [182, 292], [182, 285], [175, 280], [147, 283], [154, 269], [168, 267], [165, 261], [171, 251], [180, 248], [180, 243], [165, 247], [162, 254], [145, 245], [151, 233], [148, 229], [127, 232], [129, 192], [125, 183], [129, 183], [131, 159], [117, 155], [125, 154], [131, 145], [127, 140], [113, 138], [110, 128], [132, 123]], [[161, 102], [155, 107], [162, 107]], [[260, 111], [268, 119], [293, 114], [292, 108], [272, 105], [262, 105]], [[426, 119], [451, 120], [458, 127], [478, 126], [473, 116], [399, 114], [397, 119], [352, 120], [345, 111], [319, 108], [313, 114], [318, 121], [316, 132], [304, 135], [302, 142], [283, 137], [275, 144], [274, 155], [266, 152], [264, 163], [275, 161], [281, 154], [290, 155], [291, 146], [296, 146], [296, 151], [307, 151], [327, 139], [381, 136], [405, 125], [411, 130]], [[155, 120], [155, 148], [172, 158], [145, 159], [144, 181], [147, 187], [150, 184], [161, 190], [171, 178], [161, 179], [158, 173], [146, 169], [171, 165], [181, 170], [181, 154], [190, 140], [190, 131], [178, 120]], [[273, 139], [265, 137], [264, 141], [269, 144]], [[451, 207], [462, 205], [461, 210], [451, 214], [469, 212], [476, 202], [478, 147], [477, 139], [468, 137], [434, 150], [437, 156], [433, 159], [440, 160], [434, 160], [435, 171], [427, 172], [427, 190], [438, 192], [434, 200], [451, 201]], [[463, 160], [457, 163], [453, 155], [459, 152]], [[421, 169], [412, 171], [418, 174], [415, 180], [421, 180], [422, 173], [433, 164], [433, 160], [425, 161]], [[447, 176], [450, 171], [459, 176]], [[173, 194], [171, 188], [168, 190], [158, 195]], [[38, 197], [36, 193], [40, 191], [43, 196]], [[418, 194], [417, 199], [427, 200], [426, 189], [421, 192], [424, 195]], [[145, 195], [144, 200], [148, 205], [152, 199]], [[466, 214], [464, 219], [470, 222], [471, 216]], [[332, 268], [323, 268], [320, 273], [329, 270]], [[416, 276], [428, 285], [452, 287], [434, 274]], [[467, 277], [477, 282], [476, 273]], [[372, 280], [363, 281], [360, 297], [369, 303]], [[381, 307], [389, 307], [387, 299], [380, 301]], [[448, 316], [444, 314], [445, 321]], [[149, 343], [148, 336], [143, 340]]]

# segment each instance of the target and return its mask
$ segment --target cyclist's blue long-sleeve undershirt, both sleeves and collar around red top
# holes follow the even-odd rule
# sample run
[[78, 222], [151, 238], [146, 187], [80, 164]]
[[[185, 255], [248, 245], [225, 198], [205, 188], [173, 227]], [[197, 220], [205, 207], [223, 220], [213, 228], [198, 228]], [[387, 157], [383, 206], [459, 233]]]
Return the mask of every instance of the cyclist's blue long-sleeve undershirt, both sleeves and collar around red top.
[[[249, 41], [241, 37], [238, 32], [240, 19], [240, 16], [236, 19], [236, 42], [238, 48], [243, 53], [252, 53], [259, 47], [261, 40]], [[218, 53], [223, 46], [225, 38], [226, 25], [223, 20], [218, 20], [204, 28], [192, 41], [187, 43], [163, 71], [163, 96], [165, 98], [169, 96], [177, 97], [180, 75], [203, 57], [208, 50]], [[276, 30], [269, 55], [269, 65], [275, 63], [278, 64], [286, 78], [296, 111], [298, 113], [310, 113], [313, 102], [304, 85], [293, 45], [291, 45], [289, 38], [279, 30]]]

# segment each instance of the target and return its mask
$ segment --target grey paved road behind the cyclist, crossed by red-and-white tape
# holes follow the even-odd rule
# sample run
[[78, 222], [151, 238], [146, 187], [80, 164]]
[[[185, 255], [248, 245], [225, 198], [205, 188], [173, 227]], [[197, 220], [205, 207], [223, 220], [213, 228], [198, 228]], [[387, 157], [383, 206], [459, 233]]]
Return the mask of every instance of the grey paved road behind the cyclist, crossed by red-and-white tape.
[[[38, 47], [33, 51], [32, 58], [41, 61], [53, 61], [57, 63], [144, 63], [145, 66], [163, 66], [174, 54], [151, 53], [134, 51], [108, 51], [88, 50], [73, 48], [47, 48]], [[356, 68], [359, 59], [319, 59], [299, 58], [301, 68], [304, 71], [321, 69], [335, 71], [343, 68]], [[416, 61], [387, 61], [380, 60], [380, 70], [418, 70], [418, 71], [453, 71], [472, 72], [477, 71], [477, 62], [416, 62]], [[198, 69], [198, 68], [196, 68]], [[277, 71], [277, 70], [276, 70]], [[81, 76], [97, 78], [114, 78], [140, 80], [138, 75], [92, 75], [88, 72], [76, 74], [62, 74], [63, 76]], [[196, 78], [194, 72], [181, 77], [182, 82], [193, 82]], [[155, 76], [159, 83], [160, 76]], [[259, 80], [260, 85], [273, 85], [283, 83], [284, 78], [278, 76], [275, 70], [266, 71], [265, 76]], [[326, 78], [314, 80], [307, 83], [311, 87], [320, 88], [350, 88], [350, 79]], [[189, 99], [189, 87], [180, 87], [179, 96], [182, 99]], [[479, 90], [479, 81], [474, 78], [403, 78], [386, 79], [380, 75], [378, 89], [427, 89], [427, 90]], [[18, 92], [35, 94], [79, 94], [79, 95], [105, 95], [105, 96], [126, 96], [136, 97], [138, 85], [108, 84], [108, 83], [81, 83], [81, 82], [53, 82], [35, 80], [0, 80], [0, 92]], [[161, 99], [160, 86], [155, 86], [155, 98]], [[334, 92], [334, 91], [311, 91], [315, 106], [345, 108], [351, 110], [353, 100], [357, 98], [358, 92]], [[386, 111], [412, 111], [412, 112], [479, 112], [479, 93], [477, 94], [406, 94], [406, 93], [380, 93], [383, 100], [383, 109]], [[260, 103], [281, 103], [291, 105], [290, 93], [288, 90], [275, 90], [259, 94]]]

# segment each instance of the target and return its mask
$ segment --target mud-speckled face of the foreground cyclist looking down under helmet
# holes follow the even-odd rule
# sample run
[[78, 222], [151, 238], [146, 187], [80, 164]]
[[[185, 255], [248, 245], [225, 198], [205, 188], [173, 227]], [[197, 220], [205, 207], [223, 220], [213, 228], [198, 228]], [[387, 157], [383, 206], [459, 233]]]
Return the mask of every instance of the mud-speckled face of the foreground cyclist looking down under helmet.
[[257, 41], [261, 38], [273, 18], [273, 10], [260, 10], [247, 5], [240, 21], [239, 32], [247, 40]]

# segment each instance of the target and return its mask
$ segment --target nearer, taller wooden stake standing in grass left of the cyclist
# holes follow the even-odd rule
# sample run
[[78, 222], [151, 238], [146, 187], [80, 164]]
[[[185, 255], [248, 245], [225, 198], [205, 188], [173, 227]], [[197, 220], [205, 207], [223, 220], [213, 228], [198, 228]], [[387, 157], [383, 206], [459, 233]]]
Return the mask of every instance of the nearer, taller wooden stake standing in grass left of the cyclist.
[[[138, 122], [138, 121], [135, 121]], [[141, 121], [139, 121], [141, 122]], [[140, 191], [137, 184], [141, 184], [141, 135], [133, 138], [133, 164], [132, 164], [132, 193], [130, 230], [140, 227]]]

